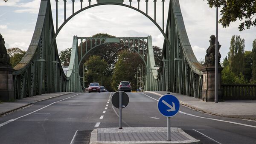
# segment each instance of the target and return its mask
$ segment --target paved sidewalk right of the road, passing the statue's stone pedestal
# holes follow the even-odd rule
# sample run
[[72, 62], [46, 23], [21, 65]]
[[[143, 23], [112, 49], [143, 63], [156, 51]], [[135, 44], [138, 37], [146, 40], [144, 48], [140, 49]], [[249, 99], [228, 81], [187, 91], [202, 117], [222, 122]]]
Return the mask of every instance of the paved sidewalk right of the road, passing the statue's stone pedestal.
[[[152, 93], [158, 96], [167, 94], [166, 91], [154, 91], [145, 93]], [[217, 116], [225, 116], [239, 119], [256, 120], [256, 100], [226, 100], [224, 102], [203, 102], [201, 99], [180, 95], [177, 93], [170, 93], [180, 100], [180, 104], [192, 109], [209, 113]]]

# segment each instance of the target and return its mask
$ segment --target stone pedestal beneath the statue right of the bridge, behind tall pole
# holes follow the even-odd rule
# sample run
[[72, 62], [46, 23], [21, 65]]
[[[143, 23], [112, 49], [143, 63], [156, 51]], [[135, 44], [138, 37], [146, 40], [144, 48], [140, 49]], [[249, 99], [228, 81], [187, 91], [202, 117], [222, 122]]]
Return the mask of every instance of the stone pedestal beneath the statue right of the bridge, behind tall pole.
[[[206, 65], [201, 70], [203, 72], [203, 90], [202, 99], [204, 102], [214, 102], [215, 99], [215, 65]], [[218, 66], [218, 99], [221, 100], [221, 71]]]

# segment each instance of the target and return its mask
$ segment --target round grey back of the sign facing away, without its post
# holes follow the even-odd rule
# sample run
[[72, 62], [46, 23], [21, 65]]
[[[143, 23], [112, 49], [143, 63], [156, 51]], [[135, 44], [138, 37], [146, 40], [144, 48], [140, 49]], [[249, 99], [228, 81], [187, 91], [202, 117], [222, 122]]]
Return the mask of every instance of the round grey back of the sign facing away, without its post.
[[[114, 107], [119, 108], [119, 92], [115, 92], [111, 97], [111, 102]], [[129, 103], [129, 97], [127, 93], [122, 91], [122, 108], [125, 108]]]

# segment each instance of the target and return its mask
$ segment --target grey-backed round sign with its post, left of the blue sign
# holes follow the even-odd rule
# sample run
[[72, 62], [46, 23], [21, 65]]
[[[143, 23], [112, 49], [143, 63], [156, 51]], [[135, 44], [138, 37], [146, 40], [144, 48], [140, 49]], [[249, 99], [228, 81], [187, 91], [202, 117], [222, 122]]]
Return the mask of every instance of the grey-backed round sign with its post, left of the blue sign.
[[122, 129], [122, 109], [129, 103], [128, 95], [123, 91], [117, 91], [113, 93], [111, 102], [114, 107], [119, 109], [119, 129]]

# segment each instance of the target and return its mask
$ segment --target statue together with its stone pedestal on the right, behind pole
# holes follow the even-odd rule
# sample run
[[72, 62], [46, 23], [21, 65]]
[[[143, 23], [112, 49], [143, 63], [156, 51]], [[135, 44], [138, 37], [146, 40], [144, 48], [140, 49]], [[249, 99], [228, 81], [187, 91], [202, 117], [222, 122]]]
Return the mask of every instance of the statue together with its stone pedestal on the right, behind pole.
[[[205, 102], [214, 102], [215, 99], [215, 35], [210, 36], [210, 46], [206, 51], [203, 72], [203, 90], [202, 99]], [[218, 42], [218, 99], [221, 99], [221, 54], [219, 52], [221, 45]]]

